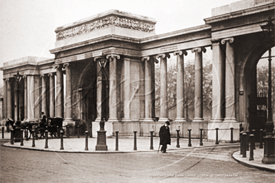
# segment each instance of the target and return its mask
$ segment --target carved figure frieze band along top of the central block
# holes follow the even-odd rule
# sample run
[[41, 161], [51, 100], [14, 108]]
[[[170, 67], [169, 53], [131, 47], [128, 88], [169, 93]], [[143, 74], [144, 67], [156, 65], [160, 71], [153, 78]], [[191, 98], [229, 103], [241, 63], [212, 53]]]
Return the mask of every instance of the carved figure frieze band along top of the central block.
[[88, 34], [89, 32], [100, 30], [101, 28], [107, 28], [110, 25], [114, 25], [120, 28], [139, 30], [143, 32], [152, 32], [154, 30], [153, 23], [136, 21], [134, 19], [128, 19], [117, 16], [110, 16], [96, 21], [92, 21], [90, 23], [85, 23], [76, 28], [70, 28], [68, 30], [57, 32], [57, 41], [68, 39], [70, 37], [81, 34]]

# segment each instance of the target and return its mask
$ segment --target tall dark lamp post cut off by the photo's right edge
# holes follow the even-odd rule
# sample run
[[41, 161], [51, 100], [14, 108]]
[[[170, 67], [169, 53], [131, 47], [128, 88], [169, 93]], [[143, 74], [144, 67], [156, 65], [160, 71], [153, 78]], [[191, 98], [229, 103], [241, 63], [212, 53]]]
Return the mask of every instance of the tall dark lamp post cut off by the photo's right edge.
[[[267, 37], [267, 41], [273, 41], [274, 43], [274, 23], [272, 23], [274, 19], [271, 17], [268, 18], [267, 24], [261, 25], [265, 36]], [[267, 100], [267, 109], [268, 116], [267, 122], [265, 124], [266, 135], [264, 137], [265, 140], [265, 149], [264, 149], [264, 157], [262, 162], [264, 164], [275, 164], [275, 153], [274, 153], [274, 123], [272, 121], [272, 70], [271, 70], [271, 49], [268, 50], [268, 100]]]

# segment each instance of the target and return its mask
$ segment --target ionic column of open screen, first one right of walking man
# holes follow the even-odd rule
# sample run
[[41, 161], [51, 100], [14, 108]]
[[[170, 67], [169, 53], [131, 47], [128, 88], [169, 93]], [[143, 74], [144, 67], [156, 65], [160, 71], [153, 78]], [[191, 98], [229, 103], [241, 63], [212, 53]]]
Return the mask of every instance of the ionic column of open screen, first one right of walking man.
[[176, 56], [176, 120], [175, 122], [185, 122], [184, 118], [184, 60], [185, 50], [174, 52]]

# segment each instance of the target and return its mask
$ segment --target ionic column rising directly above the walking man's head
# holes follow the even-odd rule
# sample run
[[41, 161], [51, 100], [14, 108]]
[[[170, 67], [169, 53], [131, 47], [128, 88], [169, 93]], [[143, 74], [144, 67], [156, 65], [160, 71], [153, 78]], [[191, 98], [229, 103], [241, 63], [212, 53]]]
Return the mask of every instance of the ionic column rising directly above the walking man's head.
[[164, 122], [168, 120], [167, 111], [167, 57], [170, 54], [158, 54], [156, 58], [161, 58], [161, 112], [159, 121]]

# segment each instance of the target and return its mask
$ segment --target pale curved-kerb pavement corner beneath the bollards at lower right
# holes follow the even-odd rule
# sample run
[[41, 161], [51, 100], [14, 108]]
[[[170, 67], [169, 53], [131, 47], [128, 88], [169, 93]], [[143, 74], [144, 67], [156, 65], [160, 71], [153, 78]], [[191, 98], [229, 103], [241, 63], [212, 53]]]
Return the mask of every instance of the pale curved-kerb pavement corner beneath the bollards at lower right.
[[261, 169], [264, 171], [272, 171], [275, 173], [275, 164], [263, 164], [263, 149], [254, 149], [254, 160], [249, 161], [249, 151], [246, 151], [247, 158], [243, 158], [243, 155], [240, 155], [240, 151], [236, 151], [232, 154], [232, 157], [239, 163], [244, 164], [245, 166], [250, 166], [253, 168]]

